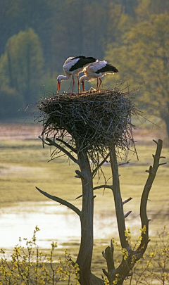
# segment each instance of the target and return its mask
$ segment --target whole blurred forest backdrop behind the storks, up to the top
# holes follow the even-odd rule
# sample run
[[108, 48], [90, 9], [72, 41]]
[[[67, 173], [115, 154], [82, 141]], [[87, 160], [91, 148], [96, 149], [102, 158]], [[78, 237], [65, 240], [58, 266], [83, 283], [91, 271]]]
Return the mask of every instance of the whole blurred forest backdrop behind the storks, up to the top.
[[[161, 117], [169, 134], [169, 2], [165, 0], [1, 0], [0, 118], [56, 89], [68, 56], [115, 65], [104, 87], [123, 77], [144, 88], [138, 101]], [[63, 90], [70, 84], [64, 82]]]

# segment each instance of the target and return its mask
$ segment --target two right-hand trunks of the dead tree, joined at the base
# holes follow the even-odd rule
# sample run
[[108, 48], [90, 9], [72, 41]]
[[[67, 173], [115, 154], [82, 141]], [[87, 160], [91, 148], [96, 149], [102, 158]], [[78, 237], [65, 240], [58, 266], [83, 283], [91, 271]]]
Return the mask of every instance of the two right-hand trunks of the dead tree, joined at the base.
[[[149, 177], [146, 181], [146, 184], [144, 186], [144, 191], [142, 193], [142, 199], [141, 199], [141, 205], [140, 205], [140, 216], [141, 216], [141, 221], [142, 221], [142, 241], [136, 251], [132, 251], [132, 249], [128, 247], [129, 245], [127, 244], [127, 242], [126, 242], [126, 247], [123, 246], [123, 244], [125, 243], [124, 241], [125, 223], [124, 223], [123, 217], [127, 216], [130, 212], [128, 212], [125, 216], [123, 214], [123, 207], [122, 207], [121, 199], [120, 199], [120, 189], [118, 189], [119, 182], [118, 182], [118, 169], [116, 167], [115, 148], [111, 146], [111, 167], [112, 167], [112, 172], [113, 172], [113, 194], [114, 194], [115, 201], [116, 200], [118, 201], [117, 206], [115, 206], [117, 220], [118, 220], [118, 230], [119, 230], [121, 245], [123, 248], [125, 248], [125, 250], [128, 253], [127, 253], [127, 258], [123, 259], [119, 267], [116, 269], [114, 269], [112, 265], [110, 248], [108, 247], [107, 249], [107, 253], [108, 253], [107, 256], [106, 256], [106, 252], [104, 253], [104, 257], [106, 258], [106, 262], [108, 263], [108, 272], [106, 272], [106, 270], [103, 270], [103, 272], [108, 277], [110, 284], [113, 284], [114, 281], [116, 282], [115, 284], [117, 285], [123, 284], [123, 281], [125, 280], [125, 278], [130, 276], [132, 272], [132, 268], [134, 267], [137, 260], [142, 258], [144, 252], [146, 251], [147, 245], [149, 243], [149, 220], [146, 214], [146, 205], [147, 205], [147, 201], [149, 197], [149, 191], [156, 177], [156, 172], [158, 170], [158, 167], [165, 164], [165, 163], [160, 163], [160, 159], [164, 158], [163, 156], [161, 156], [161, 149], [162, 149], [161, 139], [159, 139], [158, 142], [156, 142], [156, 144], [157, 144], [156, 154], [153, 155], [154, 164], [153, 166], [149, 167]], [[124, 203], [127, 203], [127, 201], [130, 201], [130, 200], [131, 198], [127, 199]], [[123, 229], [123, 232], [122, 232], [122, 229]]]

